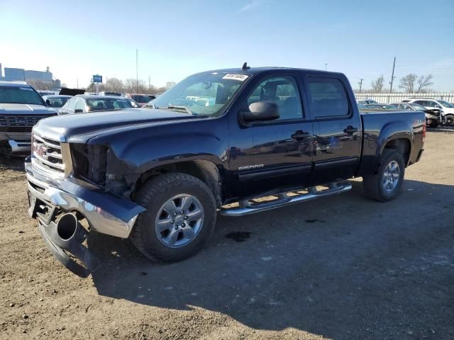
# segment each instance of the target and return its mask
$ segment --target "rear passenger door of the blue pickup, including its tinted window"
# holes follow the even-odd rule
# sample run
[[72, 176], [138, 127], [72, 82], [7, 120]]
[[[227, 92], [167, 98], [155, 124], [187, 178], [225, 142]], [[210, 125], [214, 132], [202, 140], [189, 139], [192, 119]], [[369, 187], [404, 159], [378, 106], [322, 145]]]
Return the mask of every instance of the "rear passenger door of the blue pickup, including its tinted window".
[[361, 152], [361, 120], [346, 79], [308, 75], [305, 89], [314, 116], [314, 183], [348, 179]]

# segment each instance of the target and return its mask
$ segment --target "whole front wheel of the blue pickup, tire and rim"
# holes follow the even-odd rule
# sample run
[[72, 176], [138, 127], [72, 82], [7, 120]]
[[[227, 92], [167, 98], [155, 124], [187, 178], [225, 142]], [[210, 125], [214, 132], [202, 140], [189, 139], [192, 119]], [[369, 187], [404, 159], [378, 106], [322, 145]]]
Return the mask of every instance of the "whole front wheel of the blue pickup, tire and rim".
[[216, 224], [216, 200], [210, 188], [194, 176], [163, 174], [139, 189], [139, 215], [131, 241], [148, 259], [180, 261], [198, 251]]

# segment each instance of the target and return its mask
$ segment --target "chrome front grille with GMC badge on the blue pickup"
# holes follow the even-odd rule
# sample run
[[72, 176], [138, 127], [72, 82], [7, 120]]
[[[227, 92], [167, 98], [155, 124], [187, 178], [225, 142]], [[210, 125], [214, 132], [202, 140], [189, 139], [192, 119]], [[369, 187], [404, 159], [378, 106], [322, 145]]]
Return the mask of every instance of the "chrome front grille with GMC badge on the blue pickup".
[[62, 146], [56, 140], [34, 134], [32, 137], [33, 157], [35, 166], [52, 171], [57, 174], [65, 174], [65, 164], [62, 157]]

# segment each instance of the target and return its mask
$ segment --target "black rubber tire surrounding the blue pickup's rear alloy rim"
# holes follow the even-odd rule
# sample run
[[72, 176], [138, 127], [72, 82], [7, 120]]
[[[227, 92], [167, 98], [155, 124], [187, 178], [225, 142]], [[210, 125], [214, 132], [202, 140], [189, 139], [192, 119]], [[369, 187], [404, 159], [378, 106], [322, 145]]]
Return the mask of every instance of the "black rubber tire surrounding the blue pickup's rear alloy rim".
[[[399, 165], [399, 179], [392, 191], [387, 191], [383, 185], [383, 181], [386, 176], [384, 173], [387, 169], [387, 166], [392, 162], [397, 162], [397, 164]], [[372, 198], [373, 200], [378, 200], [380, 202], [386, 202], [388, 200], [393, 200], [394, 198], [399, 196], [399, 193], [402, 189], [402, 183], [404, 183], [404, 176], [405, 163], [402, 154], [394, 149], [384, 149], [382, 157], [380, 158], [380, 165], [377, 174], [371, 176], [363, 176], [362, 186], [367, 197]]]

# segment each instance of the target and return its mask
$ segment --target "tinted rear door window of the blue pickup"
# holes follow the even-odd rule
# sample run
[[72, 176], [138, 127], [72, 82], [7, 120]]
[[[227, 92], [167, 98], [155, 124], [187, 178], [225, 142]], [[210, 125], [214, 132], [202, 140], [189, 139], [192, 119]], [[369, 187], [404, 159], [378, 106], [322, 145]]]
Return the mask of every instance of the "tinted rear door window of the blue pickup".
[[339, 79], [308, 77], [309, 106], [316, 118], [347, 116], [350, 114], [348, 97]]

